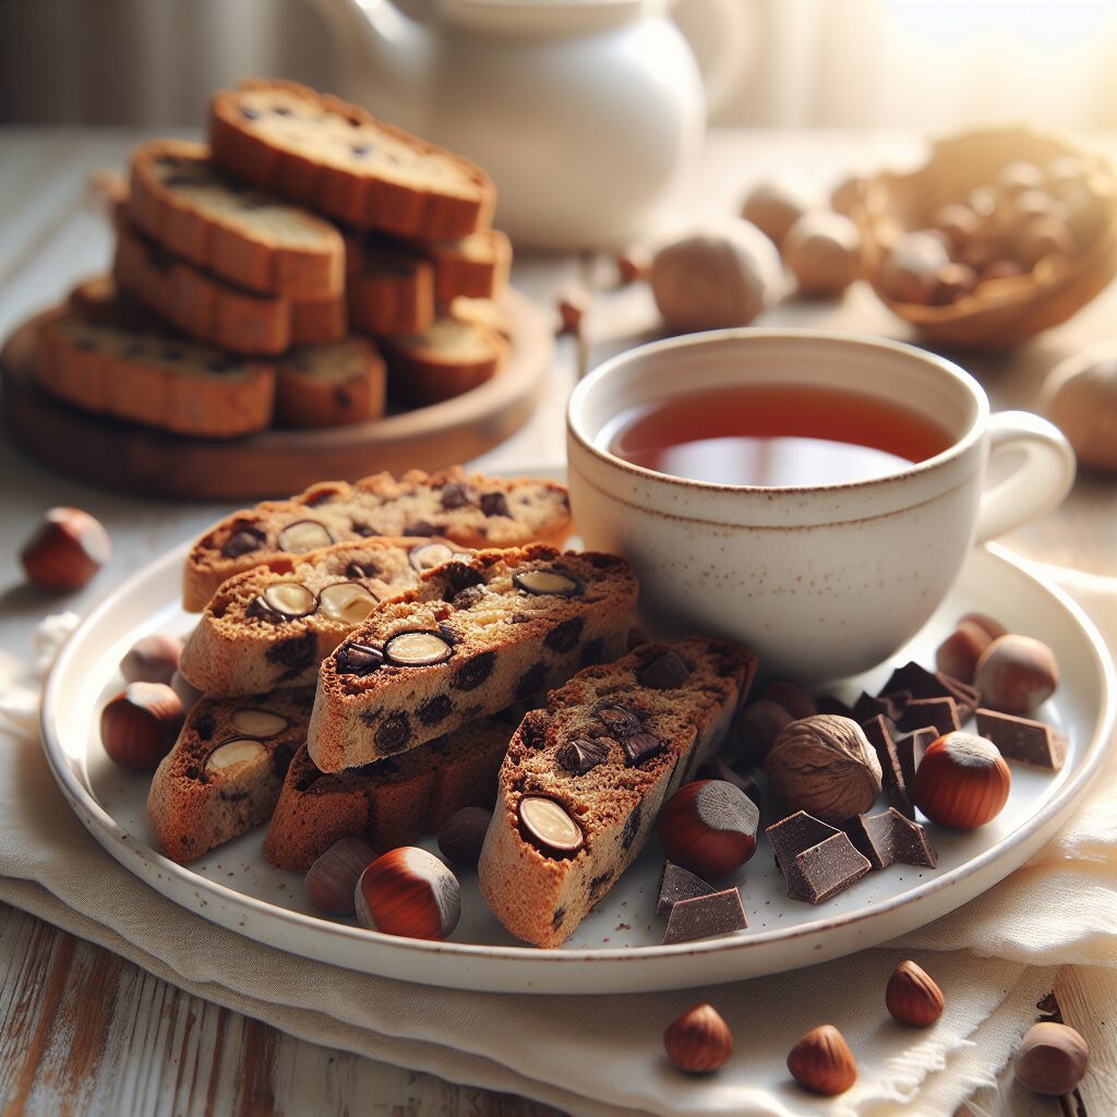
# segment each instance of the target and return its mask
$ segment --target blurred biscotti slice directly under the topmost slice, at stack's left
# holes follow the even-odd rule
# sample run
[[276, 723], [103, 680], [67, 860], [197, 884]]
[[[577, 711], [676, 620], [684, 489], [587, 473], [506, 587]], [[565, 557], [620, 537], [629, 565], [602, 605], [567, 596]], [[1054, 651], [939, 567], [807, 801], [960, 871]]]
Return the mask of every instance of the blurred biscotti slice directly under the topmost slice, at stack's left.
[[206, 144], [152, 140], [134, 147], [125, 210], [156, 244], [251, 290], [316, 299], [344, 289], [336, 227], [230, 179]]

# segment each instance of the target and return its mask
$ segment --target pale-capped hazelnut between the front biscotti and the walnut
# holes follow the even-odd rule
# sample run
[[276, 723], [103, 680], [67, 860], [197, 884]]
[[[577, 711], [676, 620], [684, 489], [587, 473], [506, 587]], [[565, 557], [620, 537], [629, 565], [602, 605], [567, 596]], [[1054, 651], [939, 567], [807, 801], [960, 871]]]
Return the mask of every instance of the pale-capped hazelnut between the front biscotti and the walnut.
[[760, 811], [724, 780], [684, 784], [659, 814], [659, 841], [668, 859], [700, 876], [719, 877], [756, 852]]

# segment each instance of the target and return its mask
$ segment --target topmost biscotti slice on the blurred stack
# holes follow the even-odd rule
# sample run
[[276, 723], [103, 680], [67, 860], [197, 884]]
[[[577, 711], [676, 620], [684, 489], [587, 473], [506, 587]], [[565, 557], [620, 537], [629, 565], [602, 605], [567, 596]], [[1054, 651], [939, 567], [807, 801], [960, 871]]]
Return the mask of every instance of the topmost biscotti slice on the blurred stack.
[[237, 178], [362, 229], [455, 240], [493, 211], [480, 168], [294, 82], [216, 94], [210, 144]]

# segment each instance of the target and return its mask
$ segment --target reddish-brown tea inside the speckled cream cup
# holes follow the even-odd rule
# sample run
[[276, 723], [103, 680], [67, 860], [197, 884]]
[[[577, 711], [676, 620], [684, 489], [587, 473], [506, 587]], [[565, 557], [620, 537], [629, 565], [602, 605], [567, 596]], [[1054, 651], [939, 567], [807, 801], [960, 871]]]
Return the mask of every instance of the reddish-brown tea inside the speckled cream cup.
[[633, 408], [608, 446], [674, 477], [771, 488], [886, 477], [952, 442], [932, 420], [871, 395], [750, 384]]

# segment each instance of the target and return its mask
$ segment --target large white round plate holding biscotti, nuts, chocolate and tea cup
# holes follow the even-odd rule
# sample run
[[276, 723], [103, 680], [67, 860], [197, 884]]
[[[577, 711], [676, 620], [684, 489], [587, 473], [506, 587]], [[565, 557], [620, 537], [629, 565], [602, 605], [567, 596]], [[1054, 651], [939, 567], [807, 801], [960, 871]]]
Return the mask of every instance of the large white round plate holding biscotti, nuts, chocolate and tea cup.
[[[151, 631], [185, 633], [195, 618], [179, 608], [185, 547], [135, 575], [94, 611], [51, 671], [44, 701], [48, 761], [78, 818], [108, 852], [184, 908], [257, 942], [369, 973], [494, 992], [612, 993], [677, 989], [776, 973], [872, 946], [973, 899], [1051, 837], [1090, 783], [1114, 720], [1114, 672], [1096, 630], [1056, 586], [1004, 552], [975, 551], [957, 585], [923, 632], [896, 657], [929, 662], [960, 613], [982, 610], [1052, 646], [1062, 667], [1058, 695], [1041, 716], [1070, 738], [1056, 776], [1013, 767], [1001, 815], [972, 833], [932, 828], [936, 870], [896, 866], [872, 872], [828, 904], [789, 900], [771, 848], [728, 878], [739, 884], [748, 929], [662, 946], [655, 915], [662, 862], [655, 838], [562, 949], [516, 945], [488, 911], [476, 878], [462, 875], [462, 919], [448, 943], [393, 938], [315, 916], [298, 875], [271, 868], [262, 830], [182, 867], [154, 848], [145, 820], [147, 779], [113, 765], [101, 746], [102, 705], [121, 687], [123, 653]], [[851, 680], [876, 689], [887, 668]], [[777, 815], [768, 809], [767, 824]], [[428, 839], [429, 848], [435, 849]]]

